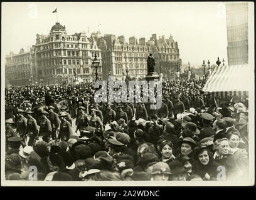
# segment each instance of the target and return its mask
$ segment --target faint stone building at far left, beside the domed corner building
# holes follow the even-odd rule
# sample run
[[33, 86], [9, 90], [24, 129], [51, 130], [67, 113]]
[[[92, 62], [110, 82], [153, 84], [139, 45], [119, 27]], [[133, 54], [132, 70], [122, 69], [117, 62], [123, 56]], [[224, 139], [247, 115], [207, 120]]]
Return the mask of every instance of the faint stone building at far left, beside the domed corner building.
[[11, 85], [28, 85], [31, 83], [33, 76], [33, 66], [31, 65], [30, 51], [24, 49], [19, 54], [11, 52], [6, 56], [5, 80], [6, 84]]

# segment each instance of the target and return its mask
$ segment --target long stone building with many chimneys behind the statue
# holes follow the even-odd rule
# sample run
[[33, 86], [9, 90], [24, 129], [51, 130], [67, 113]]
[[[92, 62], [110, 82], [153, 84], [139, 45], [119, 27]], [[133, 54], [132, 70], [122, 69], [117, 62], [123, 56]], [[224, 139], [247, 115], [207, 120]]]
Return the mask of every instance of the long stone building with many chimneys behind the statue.
[[[98, 34], [99, 35], [99, 34]], [[173, 37], [165, 39], [162, 36], [156, 39], [156, 34], [152, 34], [149, 41], [144, 37], [139, 39], [129, 37], [129, 42], [125, 42], [124, 36], [115, 37], [106, 34], [104, 37], [97, 37], [99, 49], [102, 50], [102, 70], [104, 80], [108, 76], [114, 75], [117, 79], [127, 76], [142, 78], [147, 74], [147, 56], [150, 53], [156, 61], [157, 73], [169, 74], [172, 76], [181, 66], [179, 59], [178, 43], [173, 41]]]

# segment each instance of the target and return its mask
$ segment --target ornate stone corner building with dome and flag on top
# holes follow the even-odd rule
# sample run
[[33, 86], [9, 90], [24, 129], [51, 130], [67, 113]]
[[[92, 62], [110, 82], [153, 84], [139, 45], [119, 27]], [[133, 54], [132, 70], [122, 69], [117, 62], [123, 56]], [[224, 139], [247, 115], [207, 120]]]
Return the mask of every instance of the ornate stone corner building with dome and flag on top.
[[36, 34], [35, 49], [38, 80], [45, 84], [70, 83], [79, 78], [86, 82], [93, 81], [95, 53], [100, 61], [98, 77], [102, 78], [100, 49], [85, 32], [68, 35], [65, 26], [56, 22], [51, 27], [50, 35]]

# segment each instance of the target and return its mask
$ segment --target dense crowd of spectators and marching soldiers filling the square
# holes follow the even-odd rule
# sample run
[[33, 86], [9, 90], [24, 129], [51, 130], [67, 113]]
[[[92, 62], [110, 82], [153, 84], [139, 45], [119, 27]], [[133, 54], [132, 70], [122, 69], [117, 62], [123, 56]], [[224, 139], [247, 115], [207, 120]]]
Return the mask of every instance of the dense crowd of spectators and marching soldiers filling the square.
[[162, 84], [158, 110], [97, 104], [92, 83], [6, 87], [6, 179], [247, 179], [248, 102], [206, 96], [203, 80]]

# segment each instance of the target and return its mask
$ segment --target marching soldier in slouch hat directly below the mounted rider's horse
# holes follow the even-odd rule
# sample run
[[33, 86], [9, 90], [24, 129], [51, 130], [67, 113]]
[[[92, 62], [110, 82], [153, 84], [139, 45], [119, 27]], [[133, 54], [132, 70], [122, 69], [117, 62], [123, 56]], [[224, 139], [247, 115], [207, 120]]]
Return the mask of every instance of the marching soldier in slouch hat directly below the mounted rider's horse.
[[50, 141], [51, 138], [51, 121], [46, 117], [46, 115], [48, 115], [49, 113], [46, 111], [41, 111], [40, 114], [40, 129], [39, 129], [39, 137], [43, 138], [43, 141], [45, 141], [46, 143], [48, 143], [48, 141]]

